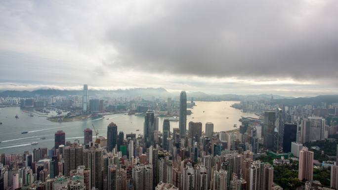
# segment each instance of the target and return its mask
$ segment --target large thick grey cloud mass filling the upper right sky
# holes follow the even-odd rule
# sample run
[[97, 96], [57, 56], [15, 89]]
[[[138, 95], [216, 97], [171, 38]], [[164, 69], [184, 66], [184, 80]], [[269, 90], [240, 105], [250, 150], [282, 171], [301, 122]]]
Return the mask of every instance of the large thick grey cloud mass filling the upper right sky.
[[148, 14], [107, 32], [121, 54], [115, 66], [196, 76], [338, 77], [336, 0], [169, 1]]

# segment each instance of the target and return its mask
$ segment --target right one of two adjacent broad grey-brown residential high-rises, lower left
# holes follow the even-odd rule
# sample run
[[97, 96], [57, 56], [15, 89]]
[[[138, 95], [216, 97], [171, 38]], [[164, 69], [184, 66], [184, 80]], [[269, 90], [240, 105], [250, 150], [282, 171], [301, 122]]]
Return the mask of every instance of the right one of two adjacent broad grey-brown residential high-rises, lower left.
[[102, 190], [103, 150], [90, 147], [84, 150], [83, 155], [84, 166], [90, 170], [90, 189], [96, 188]]

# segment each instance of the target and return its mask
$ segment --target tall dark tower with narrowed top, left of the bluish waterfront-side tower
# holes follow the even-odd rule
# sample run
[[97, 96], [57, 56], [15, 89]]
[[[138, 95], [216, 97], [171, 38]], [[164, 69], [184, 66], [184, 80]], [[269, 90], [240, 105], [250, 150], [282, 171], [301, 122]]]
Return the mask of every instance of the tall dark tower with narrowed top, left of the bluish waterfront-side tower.
[[145, 139], [146, 149], [154, 146], [154, 111], [148, 110], [144, 116], [143, 137]]

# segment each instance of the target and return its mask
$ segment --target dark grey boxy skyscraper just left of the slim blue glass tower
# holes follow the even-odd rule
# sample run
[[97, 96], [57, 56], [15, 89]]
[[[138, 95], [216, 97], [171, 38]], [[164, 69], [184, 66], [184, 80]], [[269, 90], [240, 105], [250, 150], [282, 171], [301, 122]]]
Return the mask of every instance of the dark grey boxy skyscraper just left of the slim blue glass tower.
[[264, 112], [264, 148], [272, 150], [274, 148], [275, 112]]

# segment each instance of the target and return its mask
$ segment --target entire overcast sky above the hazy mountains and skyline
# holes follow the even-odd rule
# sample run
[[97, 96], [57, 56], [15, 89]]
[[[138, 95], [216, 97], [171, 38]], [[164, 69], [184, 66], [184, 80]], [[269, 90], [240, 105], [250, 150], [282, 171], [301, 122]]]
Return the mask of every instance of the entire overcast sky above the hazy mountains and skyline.
[[0, 90], [338, 94], [337, 0], [0, 1]]

